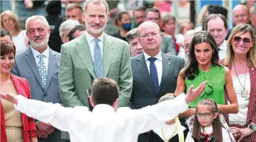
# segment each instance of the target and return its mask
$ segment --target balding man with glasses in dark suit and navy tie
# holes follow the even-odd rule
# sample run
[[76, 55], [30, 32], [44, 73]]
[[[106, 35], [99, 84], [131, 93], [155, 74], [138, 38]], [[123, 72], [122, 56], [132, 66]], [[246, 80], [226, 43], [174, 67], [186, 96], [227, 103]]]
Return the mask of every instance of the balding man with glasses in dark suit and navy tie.
[[[162, 34], [156, 23], [142, 23], [138, 34], [144, 52], [131, 59], [133, 86], [130, 101], [135, 109], [156, 104], [166, 93], [174, 93], [179, 72], [185, 64], [184, 59], [161, 52]], [[147, 136], [147, 133], [140, 134], [138, 141], [146, 141]]]

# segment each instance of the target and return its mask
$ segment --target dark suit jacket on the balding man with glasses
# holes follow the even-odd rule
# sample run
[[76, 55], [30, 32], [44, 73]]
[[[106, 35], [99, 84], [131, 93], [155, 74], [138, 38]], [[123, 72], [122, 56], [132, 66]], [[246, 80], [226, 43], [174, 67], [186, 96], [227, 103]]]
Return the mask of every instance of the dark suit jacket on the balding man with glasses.
[[162, 53], [162, 58], [163, 71], [158, 94], [154, 91], [144, 54], [131, 59], [133, 86], [130, 101], [132, 101], [132, 107], [135, 109], [156, 104], [166, 93], [175, 92], [177, 78], [185, 61], [180, 57], [164, 53]]

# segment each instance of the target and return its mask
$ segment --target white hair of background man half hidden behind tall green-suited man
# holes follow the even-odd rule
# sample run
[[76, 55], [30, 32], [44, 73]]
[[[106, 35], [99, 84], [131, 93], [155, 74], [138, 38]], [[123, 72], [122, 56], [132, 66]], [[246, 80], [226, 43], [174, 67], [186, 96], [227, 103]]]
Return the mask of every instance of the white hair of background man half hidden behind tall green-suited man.
[[73, 29], [76, 25], [79, 25], [80, 23], [76, 20], [69, 19], [67, 21], [64, 21], [59, 29], [60, 36], [63, 37], [64, 32], [69, 29]]

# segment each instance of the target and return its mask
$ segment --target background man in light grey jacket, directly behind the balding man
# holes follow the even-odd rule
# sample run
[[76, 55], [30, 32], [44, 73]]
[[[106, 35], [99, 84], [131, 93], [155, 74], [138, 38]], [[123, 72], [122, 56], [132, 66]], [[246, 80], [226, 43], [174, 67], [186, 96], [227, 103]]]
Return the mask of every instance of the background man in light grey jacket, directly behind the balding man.
[[[155, 22], [160, 25], [160, 12], [158, 9], [149, 8], [145, 12], [146, 21]], [[172, 36], [162, 33], [161, 51], [166, 54], [177, 55], [175, 42]]]

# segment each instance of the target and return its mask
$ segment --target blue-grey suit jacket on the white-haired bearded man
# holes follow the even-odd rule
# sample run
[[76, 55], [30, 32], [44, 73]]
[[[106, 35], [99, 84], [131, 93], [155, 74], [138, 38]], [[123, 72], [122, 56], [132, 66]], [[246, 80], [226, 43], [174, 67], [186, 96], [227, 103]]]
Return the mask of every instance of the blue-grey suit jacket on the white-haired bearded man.
[[[15, 64], [12, 74], [26, 78], [29, 82], [31, 99], [44, 102], [62, 103], [59, 88], [59, 61], [60, 53], [49, 49], [48, 71], [46, 79], [46, 87], [43, 84], [38, 71], [38, 67], [31, 50], [31, 47], [25, 51], [19, 52], [15, 56]], [[47, 138], [38, 138], [38, 141], [64, 141], [61, 139], [61, 131], [56, 129]]]

